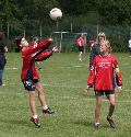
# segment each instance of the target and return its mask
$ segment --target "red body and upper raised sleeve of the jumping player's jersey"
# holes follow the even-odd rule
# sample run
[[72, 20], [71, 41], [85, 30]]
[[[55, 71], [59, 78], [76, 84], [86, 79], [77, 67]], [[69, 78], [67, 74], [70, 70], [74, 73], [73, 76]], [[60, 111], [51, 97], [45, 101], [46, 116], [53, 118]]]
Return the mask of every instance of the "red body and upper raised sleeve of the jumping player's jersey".
[[[33, 58], [39, 50], [46, 49], [47, 47], [49, 47], [50, 43], [51, 41], [46, 39], [44, 42], [38, 43], [37, 46], [31, 45], [22, 49], [23, 67], [22, 67], [21, 79], [26, 79], [29, 67], [32, 67], [32, 77], [33, 77], [32, 79], [39, 79], [39, 76], [35, 66], [35, 59]], [[50, 54], [52, 53], [50, 52]], [[49, 54], [45, 54], [46, 57], [47, 55]]]

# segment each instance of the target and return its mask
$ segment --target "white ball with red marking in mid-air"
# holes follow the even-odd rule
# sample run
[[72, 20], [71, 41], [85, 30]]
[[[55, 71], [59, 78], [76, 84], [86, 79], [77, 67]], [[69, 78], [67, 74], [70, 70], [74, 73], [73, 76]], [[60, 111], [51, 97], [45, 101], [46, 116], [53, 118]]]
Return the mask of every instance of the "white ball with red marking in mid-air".
[[60, 19], [62, 18], [62, 12], [61, 12], [60, 9], [53, 8], [53, 9], [50, 11], [50, 14], [49, 14], [49, 15], [50, 15], [51, 20], [58, 21], [58, 20], [60, 20]]

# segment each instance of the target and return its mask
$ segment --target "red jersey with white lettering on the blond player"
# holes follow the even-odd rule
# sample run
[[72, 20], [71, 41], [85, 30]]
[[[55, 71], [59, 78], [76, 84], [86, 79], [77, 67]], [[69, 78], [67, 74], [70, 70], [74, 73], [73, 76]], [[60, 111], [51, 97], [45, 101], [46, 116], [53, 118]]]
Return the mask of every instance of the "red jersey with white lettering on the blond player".
[[114, 55], [103, 57], [100, 55], [94, 58], [87, 85], [94, 85], [94, 90], [114, 90], [114, 69], [118, 68], [118, 62]]

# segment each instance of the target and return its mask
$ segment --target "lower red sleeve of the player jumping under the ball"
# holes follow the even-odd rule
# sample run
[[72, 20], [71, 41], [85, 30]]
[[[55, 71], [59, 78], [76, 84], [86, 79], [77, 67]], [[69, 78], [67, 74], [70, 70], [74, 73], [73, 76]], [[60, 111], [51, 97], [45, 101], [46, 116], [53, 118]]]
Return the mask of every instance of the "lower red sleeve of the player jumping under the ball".
[[44, 52], [39, 54], [36, 58], [35, 61], [43, 61], [49, 58], [52, 55], [52, 50]]

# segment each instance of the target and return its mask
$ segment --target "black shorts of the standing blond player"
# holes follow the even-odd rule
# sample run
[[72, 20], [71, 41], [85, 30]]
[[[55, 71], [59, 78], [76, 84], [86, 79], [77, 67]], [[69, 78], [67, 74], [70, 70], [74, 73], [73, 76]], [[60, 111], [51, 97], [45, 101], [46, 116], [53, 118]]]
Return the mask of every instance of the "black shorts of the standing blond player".
[[96, 96], [102, 96], [102, 95], [109, 96], [109, 94], [115, 94], [115, 90], [98, 90], [98, 91], [95, 91]]

